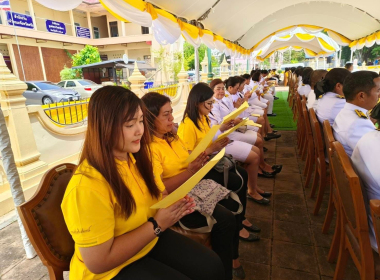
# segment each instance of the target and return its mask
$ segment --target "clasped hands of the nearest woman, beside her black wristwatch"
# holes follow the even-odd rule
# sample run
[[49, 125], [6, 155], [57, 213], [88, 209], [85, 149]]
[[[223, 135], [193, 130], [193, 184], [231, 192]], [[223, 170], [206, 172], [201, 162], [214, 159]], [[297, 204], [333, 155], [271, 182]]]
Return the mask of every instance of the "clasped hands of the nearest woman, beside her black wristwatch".
[[161, 227], [161, 230], [164, 231], [177, 223], [182, 217], [194, 212], [194, 207], [194, 199], [186, 195], [169, 207], [159, 209], [154, 219]]

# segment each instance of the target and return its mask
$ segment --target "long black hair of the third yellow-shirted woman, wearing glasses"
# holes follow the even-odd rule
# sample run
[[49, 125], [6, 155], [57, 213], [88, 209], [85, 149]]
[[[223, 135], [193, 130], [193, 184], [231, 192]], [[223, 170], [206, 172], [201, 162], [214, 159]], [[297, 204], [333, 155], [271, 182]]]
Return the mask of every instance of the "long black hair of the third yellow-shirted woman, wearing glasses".
[[[194, 125], [201, 130], [199, 122], [201, 116], [198, 112], [198, 105], [212, 98], [214, 95], [213, 90], [205, 83], [198, 83], [190, 90], [189, 97], [187, 98], [187, 104], [185, 112], [183, 113], [182, 122], [188, 117], [193, 121]], [[207, 118], [207, 122], [209, 122]]]

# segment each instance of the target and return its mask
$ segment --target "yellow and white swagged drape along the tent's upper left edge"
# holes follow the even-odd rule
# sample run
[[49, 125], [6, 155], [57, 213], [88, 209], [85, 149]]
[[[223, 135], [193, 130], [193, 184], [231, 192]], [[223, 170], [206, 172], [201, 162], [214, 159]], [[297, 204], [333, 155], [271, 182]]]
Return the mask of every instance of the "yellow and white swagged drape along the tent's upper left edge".
[[100, 3], [121, 21], [151, 27], [155, 39], [161, 45], [173, 44], [182, 35], [194, 47], [204, 43], [209, 48], [239, 58], [248, 58], [251, 53], [209, 30], [186, 23], [142, 0], [100, 0]]

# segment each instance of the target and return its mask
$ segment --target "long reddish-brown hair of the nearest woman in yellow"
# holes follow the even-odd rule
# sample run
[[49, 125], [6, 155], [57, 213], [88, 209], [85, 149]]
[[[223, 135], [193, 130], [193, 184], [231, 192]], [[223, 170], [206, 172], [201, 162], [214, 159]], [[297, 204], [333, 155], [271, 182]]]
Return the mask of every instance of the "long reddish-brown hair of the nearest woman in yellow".
[[[89, 165], [102, 174], [120, 204], [121, 209], [118, 210], [126, 218], [136, 210], [136, 202], [130, 190], [135, 186], [125, 185], [118, 171], [113, 149], [120, 137], [123, 137], [123, 124], [131, 120], [139, 108], [146, 115], [143, 102], [128, 89], [105, 86], [96, 90], [88, 105], [86, 139], [79, 160], [79, 164], [87, 160]], [[147, 127], [145, 120], [144, 126]], [[133, 153], [133, 156], [149, 193], [158, 198], [160, 190], [154, 181], [149, 143], [149, 132], [145, 129], [141, 138], [141, 148], [137, 153]], [[79, 171], [86, 175], [86, 170]]]

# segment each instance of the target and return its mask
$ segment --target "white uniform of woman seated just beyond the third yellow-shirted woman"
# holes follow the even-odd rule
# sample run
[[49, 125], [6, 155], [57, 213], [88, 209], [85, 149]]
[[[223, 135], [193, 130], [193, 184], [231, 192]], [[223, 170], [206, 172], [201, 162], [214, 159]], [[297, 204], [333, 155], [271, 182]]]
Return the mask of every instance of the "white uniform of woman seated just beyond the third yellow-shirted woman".
[[[223, 106], [221, 100], [215, 99], [214, 106], [208, 115], [211, 126], [222, 123], [222, 111], [225, 111]], [[218, 132], [217, 135], [219, 134], [220, 133]], [[256, 142], [257, 133], [251, 130], [247, 130], [245, 133], [235, 131], [228, 135], [228, 138], [234, 140], [234, 142], [226, 146], [226, 153], [231, 154], [234, 159], [244, 162], [252, 149], [252, 145]]]

